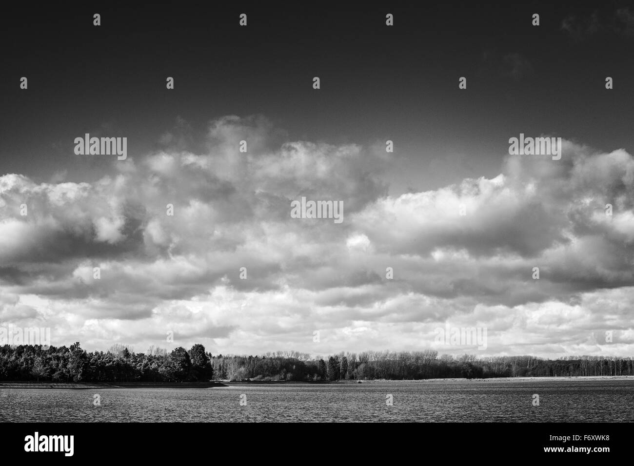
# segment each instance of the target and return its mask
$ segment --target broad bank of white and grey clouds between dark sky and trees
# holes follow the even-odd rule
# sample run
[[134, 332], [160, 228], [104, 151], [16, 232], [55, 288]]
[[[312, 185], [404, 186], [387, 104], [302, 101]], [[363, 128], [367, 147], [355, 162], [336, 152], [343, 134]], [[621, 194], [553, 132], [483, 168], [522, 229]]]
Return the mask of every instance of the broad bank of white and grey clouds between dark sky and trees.
[[[398, 197], [382, 181], [391, 162], [230, 116], [202, 143], [179, 119], [159, 150], [94, 183], [6, 174], [0, 323], [138, 351], [169, 347], [167, 332], [222, 353], [423, 349], [445, 323], [488, 328], [486, 354], [634, 348], [628, 152], [564, 141], [561, 160], [500, 157], [495, 178]], [[342, 201], [344, 221], [291, 218], [302, 196]]]

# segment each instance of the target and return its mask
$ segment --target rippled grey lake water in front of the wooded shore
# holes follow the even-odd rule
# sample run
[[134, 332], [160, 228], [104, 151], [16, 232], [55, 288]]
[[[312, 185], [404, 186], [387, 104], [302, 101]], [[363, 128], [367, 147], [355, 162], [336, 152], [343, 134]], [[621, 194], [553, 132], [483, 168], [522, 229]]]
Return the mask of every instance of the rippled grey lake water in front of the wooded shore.
[[[94, 406], [94, 395], [100, 406]], [[533, 394], [539, 406], [533, 406]], [[386, 401], [392, 396], [392, 406]], [[242, 405], [241, 405], [242, 401]], [[246, 404], [245, 404], [246, 403]], [[0, 389], [7, 422], [632, 422], [634, 379]]]

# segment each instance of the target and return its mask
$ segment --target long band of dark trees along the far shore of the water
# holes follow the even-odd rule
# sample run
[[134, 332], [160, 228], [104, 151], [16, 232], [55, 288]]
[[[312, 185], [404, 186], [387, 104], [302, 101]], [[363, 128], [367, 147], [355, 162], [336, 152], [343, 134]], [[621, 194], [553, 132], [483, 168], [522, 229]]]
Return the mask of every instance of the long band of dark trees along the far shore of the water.
[[296, 351], [262, 356], [214, 356], [196, 344], [190, 350], [150, 347], [134, 353], [115, 345], [87, 353], [79, 342], [70, 347], [20, 345], [0, 347], [0, 380], [51, 382], [191, 382], [209, 380], [418, 380], [463, 377], [553, 377], [634, 375], [633, 358], [581, 356], [541, 359], [533, 356], [459, 358], [437, 351], [367, 351], [311, 358]]

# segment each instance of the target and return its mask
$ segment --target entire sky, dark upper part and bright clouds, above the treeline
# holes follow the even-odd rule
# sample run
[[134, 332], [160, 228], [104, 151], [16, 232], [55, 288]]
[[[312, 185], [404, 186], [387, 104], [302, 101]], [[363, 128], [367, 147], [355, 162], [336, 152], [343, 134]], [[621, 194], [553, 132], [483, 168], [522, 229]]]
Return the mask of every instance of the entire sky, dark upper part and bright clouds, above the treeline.
[[[48, 8], [0, 32], [0, 325], [88, 350], [632, 355], [627, 3]], [[86, 133], [126, 160], [77, 155]], [[509, 155], [521, 133], [561, 159]], [[302, 197], [342, 223], [292, 217]]]

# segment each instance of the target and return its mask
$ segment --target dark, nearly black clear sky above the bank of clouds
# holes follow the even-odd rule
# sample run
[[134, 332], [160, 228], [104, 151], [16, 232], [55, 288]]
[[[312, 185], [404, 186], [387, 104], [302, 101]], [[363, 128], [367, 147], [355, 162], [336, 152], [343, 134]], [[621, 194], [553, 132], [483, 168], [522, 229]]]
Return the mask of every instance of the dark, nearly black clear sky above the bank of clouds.
[[[0, 32], [0, 172], [46, 179], [71, 162], [70, 179], [89, 176], [86, 160], [72, 157], [81, 134], [107, 128], [140, 153], [176, 117], [202, 133], [209, 120], [231, 114], [265, 115], [291, 139], [393, 139], [404, 167], [419, 172], [393, 174], [403, 188], [425, 188], [415, 185], [420, 172], [435, 171], [423, 178], [432, 184], [494, 176], [508, 138], [521, 132], [631, 148], [634, 72], [624, 57], [633, 56], [634, 32], [632, 18], [619, 18], [621, 7], [18, 8]], [[240, 13], [247, 27], [238, 25]], [[385, 26], [386, 13], [394, 14], [393, 27]], [[23, 75], [27, 91], [18, 86]], [[165, 89], [167, 76], [175, 78], [173, 91]], [[460, 76], [466, 91], [458, 89]], [[611, 91], [606, 76], [614, 78]], [[434, 157], [450, 162], [430, 164]]]

